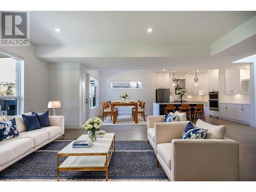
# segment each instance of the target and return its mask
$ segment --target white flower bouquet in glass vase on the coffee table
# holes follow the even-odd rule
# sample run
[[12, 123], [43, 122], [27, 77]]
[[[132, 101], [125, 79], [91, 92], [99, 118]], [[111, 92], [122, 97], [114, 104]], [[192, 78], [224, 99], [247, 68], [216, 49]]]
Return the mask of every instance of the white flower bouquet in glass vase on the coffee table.
[[89, 138], [94, 142], [98, 138], [98, 131], [101, 126], [102, 120], [98, 117], [93, 117], [88, 119], [86, 123], [82, 125], [82, 129], [88, 131]]

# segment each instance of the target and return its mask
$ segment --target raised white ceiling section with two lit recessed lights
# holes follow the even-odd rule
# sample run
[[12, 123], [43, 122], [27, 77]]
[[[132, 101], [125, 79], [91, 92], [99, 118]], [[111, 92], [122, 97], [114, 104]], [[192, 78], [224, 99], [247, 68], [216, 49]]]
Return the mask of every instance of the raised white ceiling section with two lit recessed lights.
[[[209, 45], [254, 15], [255, 11], [31, 11], [30, 37], [35, 45]], [[148, 28], [153, 31], [148, 33]]]

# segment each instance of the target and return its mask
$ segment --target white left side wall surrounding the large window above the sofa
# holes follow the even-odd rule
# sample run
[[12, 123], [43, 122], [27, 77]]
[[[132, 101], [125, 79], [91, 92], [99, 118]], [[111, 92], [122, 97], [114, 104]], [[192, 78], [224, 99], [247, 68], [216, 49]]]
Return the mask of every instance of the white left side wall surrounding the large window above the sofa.
[[49, 63], [35, 57], [32, 43], [29, 47], [0, 46], [0, 49], [24, 58], [24, 110], [21, 113], [46, 111], [49, 101]]

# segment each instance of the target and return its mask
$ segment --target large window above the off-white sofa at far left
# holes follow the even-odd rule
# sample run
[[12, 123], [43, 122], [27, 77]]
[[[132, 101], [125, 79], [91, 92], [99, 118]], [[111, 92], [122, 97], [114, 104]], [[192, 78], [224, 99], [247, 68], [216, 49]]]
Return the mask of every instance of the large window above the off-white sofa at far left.
[[20, 60], [0, 52], [0, 116], [17, 115]]

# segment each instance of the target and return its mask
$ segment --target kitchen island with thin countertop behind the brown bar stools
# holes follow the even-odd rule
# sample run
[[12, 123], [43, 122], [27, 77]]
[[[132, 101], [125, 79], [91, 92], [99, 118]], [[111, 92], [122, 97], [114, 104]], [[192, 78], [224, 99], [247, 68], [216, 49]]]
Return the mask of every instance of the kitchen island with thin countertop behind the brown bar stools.
[[189, 104], [189, 106], [197, 106], [197, 104], [208, 104], [207, 101], [183, 101], [182, 103], [180, 101], [174, 101], [174, 102], [157, 102], [153, 103], [153, 115], [164, 115], [164, 108], [166, 107], [167, 104], [174, 104], [176, 107], [176, 111], [178, 110], [178, 107], [181, 106], [181, 104]]

